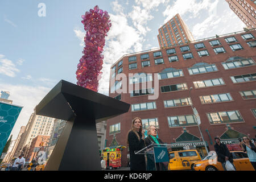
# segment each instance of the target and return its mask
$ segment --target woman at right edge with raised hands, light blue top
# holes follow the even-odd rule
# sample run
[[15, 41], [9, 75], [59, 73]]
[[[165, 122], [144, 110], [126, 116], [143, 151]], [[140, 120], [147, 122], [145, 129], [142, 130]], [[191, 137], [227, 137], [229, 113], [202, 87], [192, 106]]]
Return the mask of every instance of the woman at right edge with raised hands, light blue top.
[[249, 137], [243, 137], [240, 142], [240, 146], [242, 148], [242, 151], [246, 152], [246, 154], [248, 155], [250, 163], [256, 171], [256, 147], [253, 141], [251, 141]]

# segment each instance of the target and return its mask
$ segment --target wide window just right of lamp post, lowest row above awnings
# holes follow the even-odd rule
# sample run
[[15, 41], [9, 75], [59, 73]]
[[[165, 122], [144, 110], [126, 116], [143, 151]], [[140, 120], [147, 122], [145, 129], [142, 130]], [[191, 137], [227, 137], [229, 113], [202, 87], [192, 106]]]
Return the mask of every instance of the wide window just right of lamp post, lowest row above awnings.
[[243, 119], [238, 110], [207, 113], [207, 117], [210, 121], [210, 124], [243, 122]]

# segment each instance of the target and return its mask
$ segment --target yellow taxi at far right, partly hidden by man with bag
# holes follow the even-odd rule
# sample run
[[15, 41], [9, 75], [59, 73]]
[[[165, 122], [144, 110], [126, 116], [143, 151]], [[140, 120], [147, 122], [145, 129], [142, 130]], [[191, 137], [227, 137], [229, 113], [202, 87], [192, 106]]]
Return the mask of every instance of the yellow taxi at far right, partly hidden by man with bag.
[[[233, 155], [233, 164], [237, 171], [254, 171], [247, 154], [243, 151], [230, 151]], [[216, 155], [208, 155], [200, 162], [195, 163], [196, 171], [224, 171]]]

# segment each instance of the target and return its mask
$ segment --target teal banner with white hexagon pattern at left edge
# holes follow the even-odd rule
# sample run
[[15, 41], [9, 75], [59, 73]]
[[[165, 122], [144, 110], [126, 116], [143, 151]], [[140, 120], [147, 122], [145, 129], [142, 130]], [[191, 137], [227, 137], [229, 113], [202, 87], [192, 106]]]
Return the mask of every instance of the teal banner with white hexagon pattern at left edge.
[[21, 110], [22, 106], [0, 102], [0, 156]]

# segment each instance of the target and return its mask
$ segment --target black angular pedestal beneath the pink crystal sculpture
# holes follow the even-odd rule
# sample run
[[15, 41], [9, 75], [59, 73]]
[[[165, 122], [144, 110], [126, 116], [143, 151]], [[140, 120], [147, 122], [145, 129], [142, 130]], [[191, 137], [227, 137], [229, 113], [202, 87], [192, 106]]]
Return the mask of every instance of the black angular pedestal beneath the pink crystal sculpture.
[[100, 170], [96, 123], [126, 113], [130, 104], [61, 80], [36, 114], [67, 120], [44, 170]]

